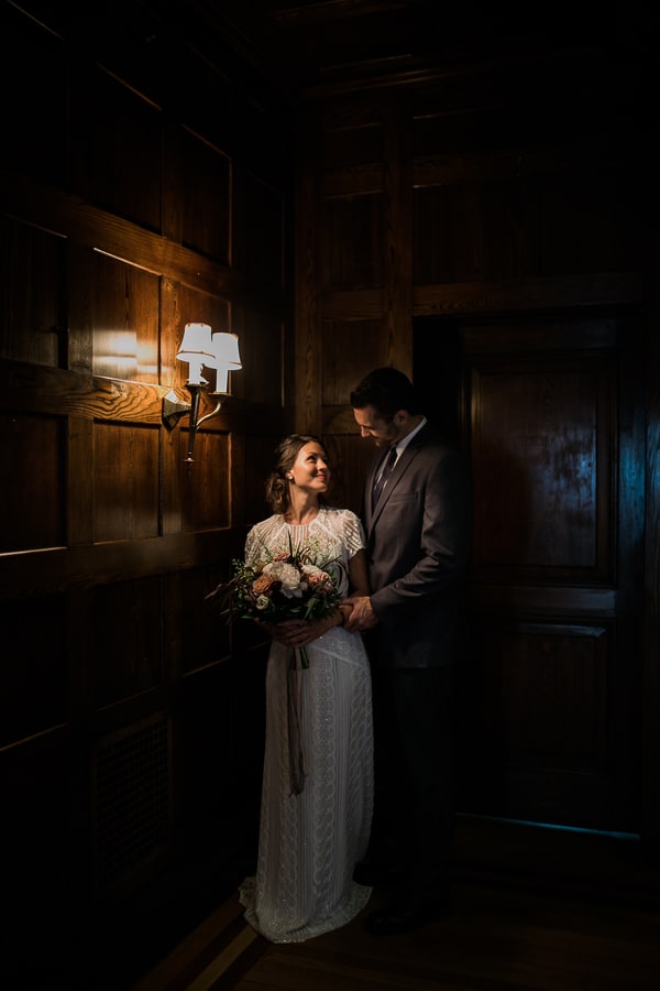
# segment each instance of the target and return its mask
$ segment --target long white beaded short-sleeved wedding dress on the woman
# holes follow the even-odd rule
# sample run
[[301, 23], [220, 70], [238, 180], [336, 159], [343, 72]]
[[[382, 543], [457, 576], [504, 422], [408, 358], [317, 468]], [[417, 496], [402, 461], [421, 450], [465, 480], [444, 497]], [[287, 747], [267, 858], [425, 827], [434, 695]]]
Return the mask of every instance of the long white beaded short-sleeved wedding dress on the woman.
[[[348, 593], [349, 558], [364, 546], [350, 510], [321, 508], [308, 526], [280, 515], [248, 534], [245, 562], [304, 545], [334, 568]], [[373, 812], [371, 674], [359, 633], [336, 627], [306, 647], [309, 667], [289, 672], [292, 652], [273, 643], [266, 673], [266, 737], [255, 876], [240, 886], [246, 921], [272, 943], [302, 943], [337, 929], [366, 905], [371, 887], [353, 881], [366, 852]], [[299, 691], [305, 763], [300, 794], [289, 777], [289, 690]]]

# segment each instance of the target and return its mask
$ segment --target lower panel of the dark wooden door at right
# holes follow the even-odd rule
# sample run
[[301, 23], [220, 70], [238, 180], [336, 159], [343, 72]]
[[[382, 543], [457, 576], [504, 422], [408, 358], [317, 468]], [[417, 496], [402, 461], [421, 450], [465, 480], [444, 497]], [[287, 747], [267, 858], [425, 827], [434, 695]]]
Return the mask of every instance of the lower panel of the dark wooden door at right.
[[596, 623], [477, 621], [471, 679], [479, 688], [460, 729], [470, 754], [462, 807], [637, 831], [637, 809], [612, 812], [614, 641], [613, 630]]

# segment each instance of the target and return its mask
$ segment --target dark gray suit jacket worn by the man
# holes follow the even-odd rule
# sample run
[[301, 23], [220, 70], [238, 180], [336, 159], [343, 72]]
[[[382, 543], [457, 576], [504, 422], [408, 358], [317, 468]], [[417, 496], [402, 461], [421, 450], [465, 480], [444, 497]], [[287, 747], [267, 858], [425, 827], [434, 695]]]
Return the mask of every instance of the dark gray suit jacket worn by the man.
[[463, 591], [470, 563], [473, 489], [463, 456], [429, 424], [410, 440], [372, 512], [383, 458], [367, 473], [363, 509], [371, 638], [378, 665], [435, 667], [461, 649]]

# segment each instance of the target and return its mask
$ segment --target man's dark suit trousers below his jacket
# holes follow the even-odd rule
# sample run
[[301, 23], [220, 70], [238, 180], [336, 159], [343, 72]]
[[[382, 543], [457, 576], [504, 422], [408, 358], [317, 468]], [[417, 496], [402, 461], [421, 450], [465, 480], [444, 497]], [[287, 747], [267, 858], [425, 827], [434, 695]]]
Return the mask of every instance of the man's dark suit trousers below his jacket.
[[453, 668], [374, 668], [371, 849], [400, 869], [404, 894], [446, 897], [455, 817]]

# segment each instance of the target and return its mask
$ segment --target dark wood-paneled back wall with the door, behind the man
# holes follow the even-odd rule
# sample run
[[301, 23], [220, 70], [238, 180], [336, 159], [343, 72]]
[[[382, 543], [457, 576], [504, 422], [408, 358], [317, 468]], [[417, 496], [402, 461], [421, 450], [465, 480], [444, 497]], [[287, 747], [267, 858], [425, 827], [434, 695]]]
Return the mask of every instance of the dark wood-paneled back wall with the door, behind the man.
[[443, 416], [453, 369], [477, 487], [462, 808], [629, 832], [650, 854], [654, 74], [625, 46], [519, 54], [309, 100], [297, 420], [359, 510], [373, 448], [351, 389], [395, 364]]

